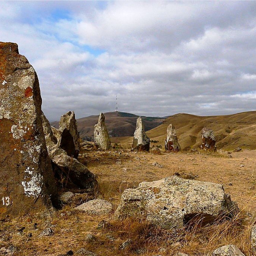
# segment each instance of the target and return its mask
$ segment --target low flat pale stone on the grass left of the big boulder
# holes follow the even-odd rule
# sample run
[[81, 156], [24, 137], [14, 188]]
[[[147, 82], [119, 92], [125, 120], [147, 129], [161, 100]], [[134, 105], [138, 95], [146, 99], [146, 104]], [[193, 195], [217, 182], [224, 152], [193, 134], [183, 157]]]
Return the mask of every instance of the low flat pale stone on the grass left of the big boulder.
[[105, 215], [109, 214], [113, 210], [113, 206], [106, 200], [94, 199], [77, 206], [75, 209], [86, 212], [87, 214]]

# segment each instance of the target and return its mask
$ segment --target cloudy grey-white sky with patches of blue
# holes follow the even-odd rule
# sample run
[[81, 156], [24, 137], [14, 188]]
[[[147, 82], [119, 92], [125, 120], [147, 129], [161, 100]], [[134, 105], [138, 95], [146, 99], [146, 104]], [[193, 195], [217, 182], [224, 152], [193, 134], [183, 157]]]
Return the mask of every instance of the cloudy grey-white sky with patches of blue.
[[0, 1], [50, 121], [256, 109], [255, 1]]

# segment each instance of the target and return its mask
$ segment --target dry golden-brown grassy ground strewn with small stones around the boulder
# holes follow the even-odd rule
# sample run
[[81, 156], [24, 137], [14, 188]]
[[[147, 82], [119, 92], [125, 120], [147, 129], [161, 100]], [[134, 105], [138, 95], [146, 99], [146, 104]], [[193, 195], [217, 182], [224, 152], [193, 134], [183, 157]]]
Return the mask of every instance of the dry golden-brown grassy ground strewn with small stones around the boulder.
[[[126, 188], [137, 187], [142, 181], [178, 175], [222, 184], [231, 199], [238, 202], [241, 212], [232, 221], [184, 230], [182, 239], [178, 240], [146, 222], [114, 221], [112, 214], [92, 216], [75, 211], [75, 205], [64, 206], [44, 217], [38, 214], [9, 219], [7, 216], [1, 220], [0, 255], [152, 256], [183, 252], [192, 256], [211, 255], [214, 249], [227, 244], [238, 246], [247, 256], [253, 255], [248, 227], [254, 222], [256, 207], [255, 150], [154, 155], [121, 149], [109, 152], [90, 149], [80, 152], [78, 160], [98, 176], [97, 198], [111, 202], [114, 209]], [[99, 225], [103, 220], [107, 222]], [[49, 236], [42, 234], [44, 230]]]

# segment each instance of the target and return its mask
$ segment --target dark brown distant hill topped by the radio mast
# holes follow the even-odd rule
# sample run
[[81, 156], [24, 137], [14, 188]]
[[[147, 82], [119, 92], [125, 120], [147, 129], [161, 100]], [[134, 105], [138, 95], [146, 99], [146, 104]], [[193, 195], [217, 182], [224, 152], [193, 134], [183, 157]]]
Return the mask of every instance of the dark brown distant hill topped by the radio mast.
[[[107, 112], [104, 113], [105, 123], [110, 137], [133, 136], [136, 127], [137, 115], [125, 112]], [[77, 119], [78, 131], [83, 140], [93, 141], [94, 125], [98, 122], [99, 115]], [[164, 118], [142, 116], [145, 130], [155, 128], [163, 123]], [[59, 128], [59, 122], [52, 122], [51, 126]]]

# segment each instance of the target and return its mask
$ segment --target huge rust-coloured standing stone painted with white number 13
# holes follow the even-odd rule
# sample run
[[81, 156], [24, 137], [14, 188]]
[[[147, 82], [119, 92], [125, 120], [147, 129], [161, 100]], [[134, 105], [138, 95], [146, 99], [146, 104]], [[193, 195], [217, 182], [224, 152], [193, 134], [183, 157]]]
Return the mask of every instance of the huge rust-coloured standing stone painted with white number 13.
[[[0, 216], [56, 204], [39, 82], [18, 45], [0, 42]], [[51, 202], [52, 201], [52, 202]]]

